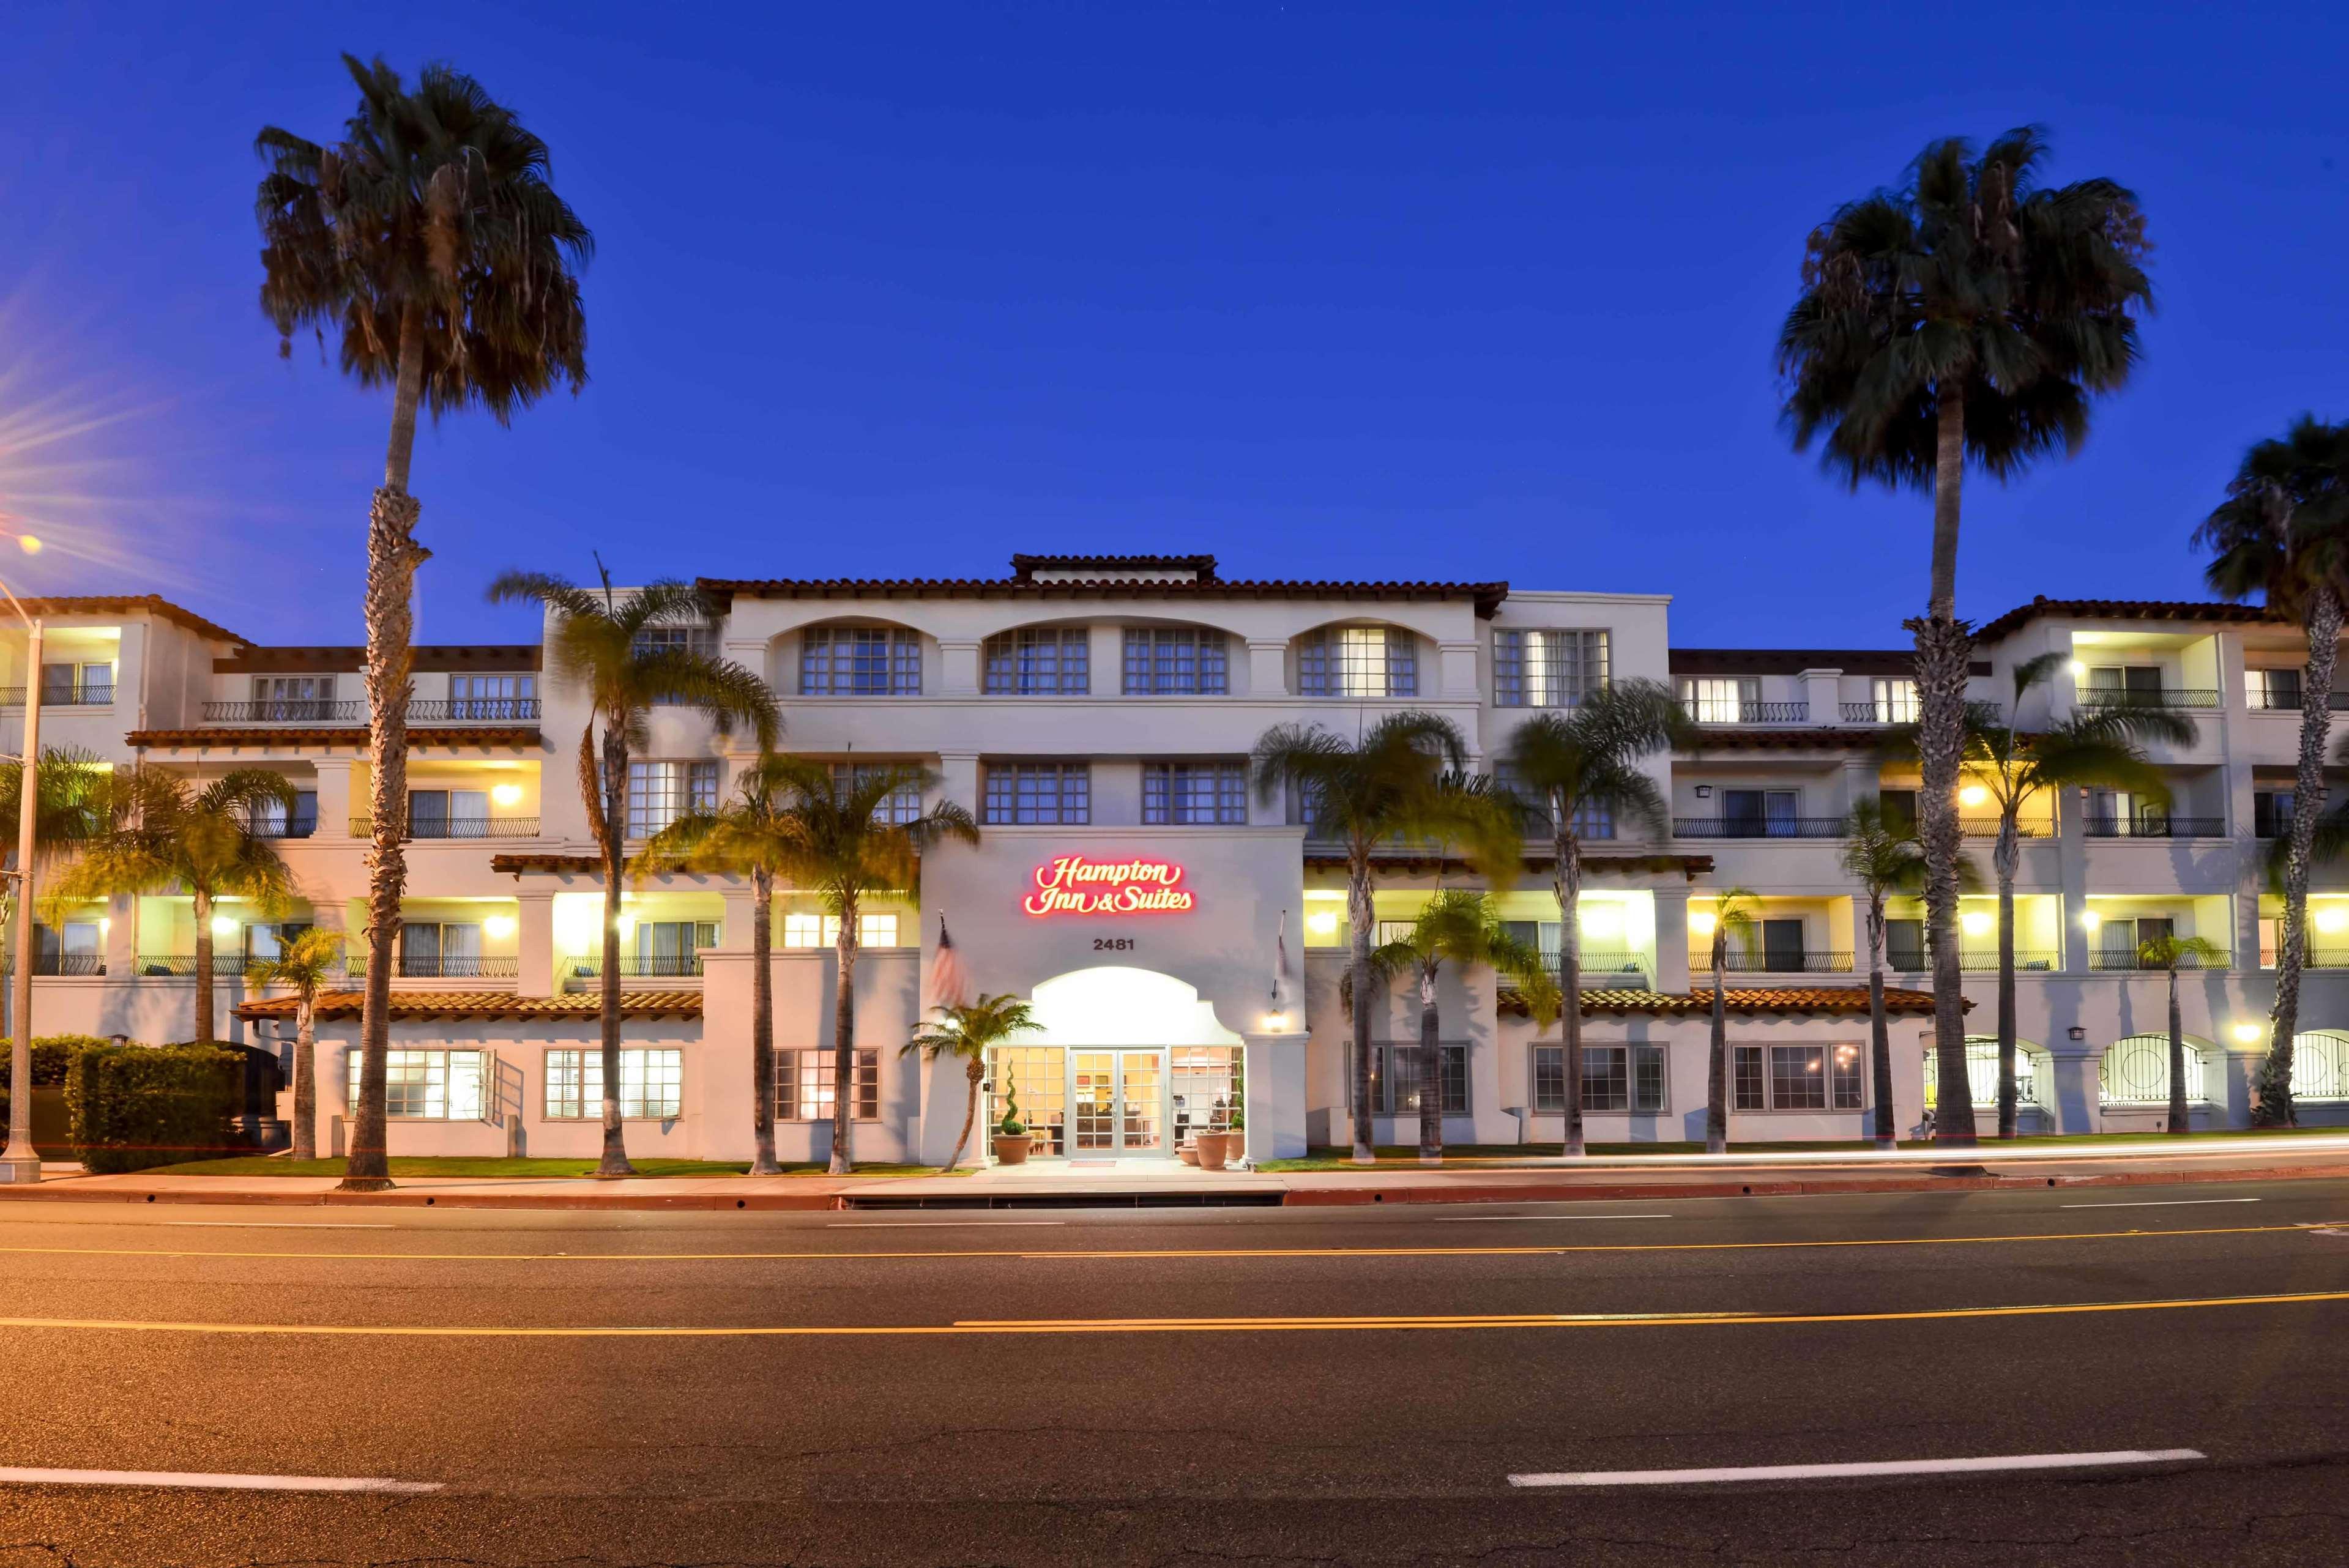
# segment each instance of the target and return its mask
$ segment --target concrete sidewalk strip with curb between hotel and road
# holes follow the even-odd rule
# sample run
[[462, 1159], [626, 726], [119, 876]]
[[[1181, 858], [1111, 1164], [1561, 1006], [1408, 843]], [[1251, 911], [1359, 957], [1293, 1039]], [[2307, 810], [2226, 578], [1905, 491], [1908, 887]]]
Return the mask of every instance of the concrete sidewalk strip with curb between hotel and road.
[[1024, 1209], [1327, 1207], [1423, 1202], [1602, 1202], [1795, 1192], [1964, 1192], [1983, 1188], [2161, 1185], [2349, 1178], [2349, 1138], [2208, 1138], [2163, 1145], [1734, 1153], [1463, 1160], [1440, 1169], [1198, 1171], [1165, 1160], [1027, 1164], [965, 1176], [409, 1176], [390, 1192], [336, 1192], [331, 1176], [82, 1176], [0, 1188], [0, 1202], [336, 1204], [435, 1209]]

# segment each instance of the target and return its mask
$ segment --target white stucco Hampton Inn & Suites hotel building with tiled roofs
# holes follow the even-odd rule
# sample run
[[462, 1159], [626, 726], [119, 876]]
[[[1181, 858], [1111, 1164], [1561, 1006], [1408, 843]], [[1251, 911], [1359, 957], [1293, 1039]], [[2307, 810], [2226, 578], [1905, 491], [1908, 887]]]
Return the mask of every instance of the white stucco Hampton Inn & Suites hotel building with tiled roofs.
[[[965, 1077], [900, 1047], [926, 1000], [940, 932], [970, 981], [1029, 998], [1041, 1033], [991, 1066], [1043, 1136], [1043, 1157], [1167, 1157], [1189, 1129], [1247, 1108], [1250, 1155], [1348, 1138], [1346, 869], [1297, 800], [1264, 800], [1247, 756], [1278, 723], [1353, 735], [1395, 709], [1449, 718], [1494, 770], [1541, 709], [1628, 676], [1672, 683], [1703, 744], [1649, 768], [1670, 833], [1586, 824], [1581, 906], [1586, 1108], [1593, 1141], [1703, 1136], [1708, 932], [1727, 887], [1759, 918], [1729, 974], [1731, 1138], [1860, 1138], [1870, 1124], [1865, 899], [1839, 869], [1839, 824], [1877, 796], [1914, 810], [1914, 768], [1884, 761], [1914, 716], [1898, 648], [1682, 648], [1668, 599], [1527, 592], [1503, 582], [1231, 580], [1212, 556], [1015, 556], [984, 580], [702, 580], [712, 620], [688, 638], [761, 671], [785, 746], [839, 770], [914, 761], [982, 822], [921, 887], [874, 899], [860, 927], [857, 1059], [834, 1082], [836, 962], [820, 901], [775, 901], [778, 1080], [752, 1082], [749, 890], [660, 876], [627, 890], [627, 1145], [637, 1155], [747, 1157], [752, 1096], [773, 1094], [785, 1160], [829, 1153], [834, 1094], [857, 1160], [942, 1160]], [[216, 777], [282, 772], [298, 807], [268, 833], [301, 906], [265, 920], [214, 913], [218, 1028], [287, 1049], [291, 1005], [249, 995], [249, 955], [294, 927], [352, 932], [366, 892], [366, 709], [359, 648], [270, 648], [155, 596], [49, 599], [40, 671], [0, 664], [19, 707], [42, 692], [42, 742], [115, 765]], [[2192, 744], [2149, 749], [2170, 800], [2041, 796], [2022, 819], [2015, 890], [2025, 1131], [2159, 1127], [2168, 976], [2138, 967], [2154, 932], [2220, 958], [2178, 976], [2196, 1127], [2248, 1120], [2267, 1047], [2279, 901], [2264, 854], [2290, 812], [2300, 667], [2293, 627], [2253, 606], [2037, 599], [1987, 622], [1971, 695], [2006, 704], [2041, 653], [2062, 671], [2013, 718], [2159, 702], [2196, 721]], [[592, 1155], [601, 1066], [601, 880], [573, 756], [576, 690], [538, 646], [428, 646], [409, 714], [409, 890], [381, 962], [392, 981], [392, 1153]], [[630, 765], [627, 838], [721, 800], [752, 761], [693, 709], [651, 714]], [[886, 810], [918, 812], [921, 800]], [[1961, 793], [1966, 845], [1990, 871], [1994, 822]], [[1548, 845], [1501, 892], [1520, 934], [1555, 951]], [[1085, 880], [1071, 866], [1109, 876]], [[1099, 869], [1123, 869], [1102, 873]], [[1426, 850], [1381, 852], [1381, 937], [1423, 899], [1468, 885]], [[1059, 899], [1135, 887], [1130, 899]], [[1186, 899], [1151, 897], [1174, 887]], [[2349, 1120], [2349, 880], [2321, 869], [2302, 993], [2300, 1103]], [[2333, 892], [2342, 890], [2342, 892]], [[1083, 904], [1064, 908], [1055, 904]], [[1092, 913], [1102, 904], [1111, 908]], [[1116, 908], [1139, 904], [1142, 908]], [[1971, 1094], [1992, 1099], [1997, 901], [1964, 901], [1976, 1035]], [[1287, 993], [1276, 1007], [1276, 953]], [[120, 897], [38, 930], [38, 1033], [179, 1040], [193, 1030], [195, 930], [183, 894]], [[1893, 1101], [1903, 1134], [1931, 1094], [1921, 911], [1893, 906]], [[357, 991], [319, 1021], [319, 1145], [336, 1148], [355, 1073]], [[1447, 967], [1440, 981], [1447, 1143], [1557, 1143], [1562, 1047], [1510, 984]], [[1381, 1143], [1416, 1141], [1419, 1002], [1372, 998]]]

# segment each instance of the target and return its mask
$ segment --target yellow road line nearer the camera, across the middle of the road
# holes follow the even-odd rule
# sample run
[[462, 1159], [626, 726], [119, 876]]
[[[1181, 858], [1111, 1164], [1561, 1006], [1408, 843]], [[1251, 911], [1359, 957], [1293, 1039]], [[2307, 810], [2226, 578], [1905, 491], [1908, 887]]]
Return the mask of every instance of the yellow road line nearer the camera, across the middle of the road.
[[752, 1338], [947, 1338], [982, 1333], [1355, 1333], [1426, 1329], [1771, 1329], [1795, 1324], [1912, 1324], [1957, 1317], [2065, 1317], [2084, 1312], [2178, 1312], [2189, 1307], [2283, 1307], [2349, 1300], [2349, 1291], [2196, 1296], [2173, 1300], [2067, 1300], [2015, 1307], [1919, 1312], [1480, 1312], [1459, 1317], [1034, 1317], [956, 1324], [174, 1324], [110, 1317], [0, 1317], [0, 1329], [99, 1333], [230, 1333], [294, 1338], [482, 1338], [482, 1340], [752, 1340]]

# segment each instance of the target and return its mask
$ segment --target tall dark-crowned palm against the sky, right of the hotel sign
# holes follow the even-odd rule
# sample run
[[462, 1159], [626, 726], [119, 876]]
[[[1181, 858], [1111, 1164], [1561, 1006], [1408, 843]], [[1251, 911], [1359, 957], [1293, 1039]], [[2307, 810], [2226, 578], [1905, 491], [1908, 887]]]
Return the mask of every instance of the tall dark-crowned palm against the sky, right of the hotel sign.
[[[1940, 1082], [1961, 1082], [1966, 1016], [1957, 962], [1957, 793], [1968, 627], [1957, 620], [1964, 465], [2006, 479], [2088, 439], [2088, 404], [2138, 361], [2145, 218], [2105, 178], [2041, 185], [2037, 127], [1980, 155], [1936, 141], [1907, 183], [1839, 207], [1811, 230], [1802, 296], [1778, 331], [1785, 423], [1820, 441], [1849, 484], [1933, 488], [1933, 570], [1917, 636], [1926, 918]], [[1936, 1122], [1973, 1143], [1973, 1106]]]

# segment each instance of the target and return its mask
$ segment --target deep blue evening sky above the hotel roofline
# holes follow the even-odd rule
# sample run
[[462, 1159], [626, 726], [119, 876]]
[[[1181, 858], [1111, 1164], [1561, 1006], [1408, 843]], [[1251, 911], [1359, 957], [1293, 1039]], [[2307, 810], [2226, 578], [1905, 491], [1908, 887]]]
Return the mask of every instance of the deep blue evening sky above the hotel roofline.
[[[1804, 232], [2037, 120], [2147, 207], [2088, 448], [1971, 481], [1961, 610], [2201, 596], [2241, 448], [2349, 415], [2349, 7], [49, 5], [0, 49], [12, 584], [355, 641], [385, 399], [254, 303], [263, 122], [451, 59], [594, 228], [592, 383], [425, 432], [423, 636], [503, 566], [1670, 592], [1680, 643], [1886, 646], [1926, 502], [1778, 430]], [[0, 561], [0, 568], [7, 568]]]

